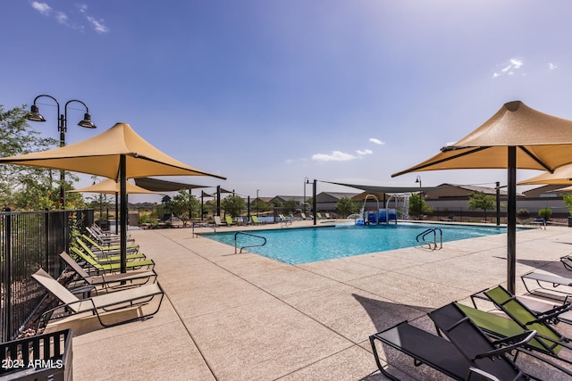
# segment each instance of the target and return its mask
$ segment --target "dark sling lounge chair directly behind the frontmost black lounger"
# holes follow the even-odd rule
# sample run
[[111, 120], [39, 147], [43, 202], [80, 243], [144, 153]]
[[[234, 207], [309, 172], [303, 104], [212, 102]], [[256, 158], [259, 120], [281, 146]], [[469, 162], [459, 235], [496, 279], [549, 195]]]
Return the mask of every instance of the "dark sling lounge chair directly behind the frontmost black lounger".
[[[458, 303], [450, 303], [442, 308], [428, 313], [439, 333], [447, 336], [459, 352], [471, 363], [472, 367], [484, 370], [493, 375], [494, 379], [512, 380], [539, 379], [533, 375], [525, 375], [516, 364], [517, 356], [524, 353], [534, 359], [542, 361], [551, 369], [558, 369], [568, 376], [572, 376], [572, 369], [563, 367], [542, 356], [531, 353], [527, 347], [538, 338], [538, 333], [532, 330], [521, 329], [516, 335], [502, 337], [491, 341], [487, 335], [475, 324], [475, 321], [461, 310]], [[514, 352], [513, 352], [514, 351]], [[484, 354], [481, 354], [484, 353]], [[510, 358], [509, 358], [510, 356]], [[529, 361], [527, 361], [529, 362]], [[532, 369], [531, 369], [532, 370]], [[481, 374], [481, 376], [483, 376]]]

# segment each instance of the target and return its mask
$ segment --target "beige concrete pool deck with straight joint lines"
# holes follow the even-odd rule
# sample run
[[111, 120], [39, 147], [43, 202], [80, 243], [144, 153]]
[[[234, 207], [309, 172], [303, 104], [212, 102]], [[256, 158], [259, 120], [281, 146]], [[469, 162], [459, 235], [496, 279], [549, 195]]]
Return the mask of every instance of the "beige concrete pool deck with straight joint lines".
[[[219, 231], [230, 229], [252, 228]], [[430, 329], [426, 312], [506, 282], [505, 234], [296, 266], [234, 254], [190, 228], [130, 235], [156, 261], [161, 310], [75, 336], [75, 379], [382, 380], [369, 335], [406, 319]], [[572, 228], [517, 232], [517, 294], [526, 291], [519, 276], [533, 269], [572, 277], [559, 263], [569, 253]], [[558, 326], [572, 336], [569, 328]], [[402, 379], [443, 378], [405, 356], [390, 370]]]

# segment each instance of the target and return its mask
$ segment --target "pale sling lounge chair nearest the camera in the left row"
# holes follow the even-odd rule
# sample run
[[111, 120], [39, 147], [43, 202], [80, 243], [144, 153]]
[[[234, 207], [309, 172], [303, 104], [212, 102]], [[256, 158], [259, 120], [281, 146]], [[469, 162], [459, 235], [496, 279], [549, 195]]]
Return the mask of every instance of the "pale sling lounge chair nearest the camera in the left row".
[[[96, 315], [99, 324], [103, 327], [112, 327], [134, 320], [147, 319], [159, 311], [164, 295], [161, 286], [158, 283], [153, 283], [151, 285], [129, 288], [115, 293], [79, 299], [43, 269], [38, 269], [32, 277], [61, 302], [55, 309], [45, 311], [42, 314], [40, 324], [53, 319], [53, 312], [62, 309], [65, 310], [66, 316], [73, 316], [75, 319], [83, 319], [90, 315]], [[159, 298], [156, 308], [144, 313], [142, 308], [150, 302], [153, 302], [156, 297]], [[118, 319], [120, 313], [128, 311], [134, 311], [135, 313], [124, 313], [121, 315], [121, 318]], [[58, 318], [60, 318], [60, 316], [58, 316]]]

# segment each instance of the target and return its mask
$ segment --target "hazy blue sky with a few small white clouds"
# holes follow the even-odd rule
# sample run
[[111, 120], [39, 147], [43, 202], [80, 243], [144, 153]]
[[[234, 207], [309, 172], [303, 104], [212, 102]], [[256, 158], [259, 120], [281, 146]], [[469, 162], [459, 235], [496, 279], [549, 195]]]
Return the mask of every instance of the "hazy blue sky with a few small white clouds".
[[[304, 178], [416, 186], [415, 173], [391, 174], [509, 101], [572, 119], [567, 0], [6, 0], [0, 9], [0, 104], [79, 99], [97, 129], [76, 127], [83, 110], [70, 104], [68, 144], [127, 122], [164, 153], [228, 178], [168, 179], [239, 195], [302, 195]], [[30, 124], [57, 137], [55, 104], [38, 102], [48, 122]], [[418, 175], [424, 186], [507, 178]], [[322, 191], [355, 190], [318, 183]]]

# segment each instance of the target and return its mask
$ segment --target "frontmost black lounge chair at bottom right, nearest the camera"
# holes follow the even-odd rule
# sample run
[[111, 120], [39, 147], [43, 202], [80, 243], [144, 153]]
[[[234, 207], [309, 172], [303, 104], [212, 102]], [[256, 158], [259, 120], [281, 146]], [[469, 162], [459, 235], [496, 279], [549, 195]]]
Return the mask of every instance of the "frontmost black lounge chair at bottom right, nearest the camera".
[[[462, 335], [457, 335], [461, 330]], [[416, 366], [426, 364], [456, 380], [467, 380], [479, 376], [482, 377], [481, 379], [527, 379], [526, 375], [504, 353], [531, 340], [535, 335], [534, 332], [519, 335], [495, 345], [478, 327], [472, 325], [470, 320], [461, 319], [458, 325], [447, 333], [455, 341], [448, 341], [439, 335], [433, 335], [403, 321], [394, 327], [369, 336], [369, 340], [378, 369], [392, 380], [399, 380], [399, 378], [383, 368], [375, 346], [376, 340], [412, 357]], [[479, 345], [475, 345], [476, 343]], [[500, 344], [508, 344], [508, 346], [500, 348]]]

